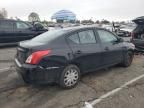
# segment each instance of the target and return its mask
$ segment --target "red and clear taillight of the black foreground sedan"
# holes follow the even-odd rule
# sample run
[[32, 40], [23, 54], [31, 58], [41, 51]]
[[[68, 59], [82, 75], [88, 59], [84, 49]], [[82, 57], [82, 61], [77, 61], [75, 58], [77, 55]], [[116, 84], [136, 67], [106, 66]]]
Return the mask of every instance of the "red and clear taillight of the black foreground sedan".
[[44, 56], [49, 55], [50, 53], [51, 50], [36, 51], [27, 58], [26, 63], [38, 64]]

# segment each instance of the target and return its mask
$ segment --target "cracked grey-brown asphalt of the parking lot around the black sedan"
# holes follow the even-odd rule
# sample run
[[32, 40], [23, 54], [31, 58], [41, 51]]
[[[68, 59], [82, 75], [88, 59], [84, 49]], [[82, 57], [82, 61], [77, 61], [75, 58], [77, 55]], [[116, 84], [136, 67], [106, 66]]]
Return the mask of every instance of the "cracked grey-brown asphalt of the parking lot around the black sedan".
[[[99, 99], [144, 74], [144, 56], [136, 55], [130, 67], [114, 66], [85, 74], [73, 89], [64, 90], [58, 85], [27, 85], [15, 70], [15, 54], [15, 47], [0, 50], [1, 108], [82, 108], [84, 102]], [[144, 108], [144, 78], [103, 99], [93, 107]]]

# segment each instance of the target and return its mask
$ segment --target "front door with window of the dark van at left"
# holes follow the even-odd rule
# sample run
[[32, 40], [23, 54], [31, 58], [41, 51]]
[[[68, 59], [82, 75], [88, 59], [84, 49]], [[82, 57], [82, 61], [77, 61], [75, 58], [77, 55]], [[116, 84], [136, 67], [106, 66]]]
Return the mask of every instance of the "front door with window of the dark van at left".
[[17, 41], [31, 39], [37, 34], [34, 30], [30, 29], [31, 26], [29, 26], [25, 22], [16, 21], [14, 25], [15, 25], [14, 32], [15, 32]]

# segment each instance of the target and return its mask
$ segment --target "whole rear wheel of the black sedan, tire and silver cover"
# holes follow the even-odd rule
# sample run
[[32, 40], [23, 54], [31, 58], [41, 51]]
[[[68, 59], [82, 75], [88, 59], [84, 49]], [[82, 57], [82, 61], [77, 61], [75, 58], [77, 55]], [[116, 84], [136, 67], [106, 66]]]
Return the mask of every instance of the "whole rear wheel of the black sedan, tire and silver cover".
[[62, 72], [59, 85], [62, 88], [75, 87], [80, 79], [80, 70], [76, 65], [68, 65]]

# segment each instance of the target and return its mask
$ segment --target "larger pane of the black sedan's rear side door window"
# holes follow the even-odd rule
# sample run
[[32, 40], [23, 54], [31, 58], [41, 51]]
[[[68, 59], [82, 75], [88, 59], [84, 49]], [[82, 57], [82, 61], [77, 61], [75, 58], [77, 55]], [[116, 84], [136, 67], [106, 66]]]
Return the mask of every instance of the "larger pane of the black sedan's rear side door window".
[[85, 30], [78, 33], [81, 44], [94, 44], [96, 43], [96, 38], [93, 30]]

